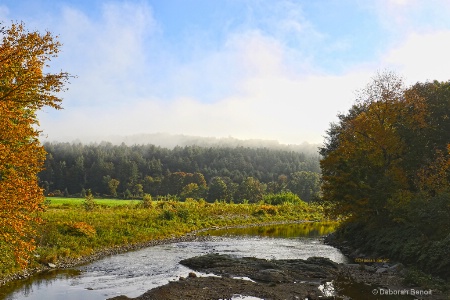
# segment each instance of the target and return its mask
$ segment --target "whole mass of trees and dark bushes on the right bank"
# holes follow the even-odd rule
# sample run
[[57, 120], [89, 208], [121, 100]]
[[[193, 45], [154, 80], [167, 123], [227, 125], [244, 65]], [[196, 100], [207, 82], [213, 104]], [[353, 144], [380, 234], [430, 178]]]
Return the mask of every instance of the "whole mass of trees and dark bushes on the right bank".
[[322, 203], [362, 253], [450, 278], [450, 82], [379, 74], [321, 148]]

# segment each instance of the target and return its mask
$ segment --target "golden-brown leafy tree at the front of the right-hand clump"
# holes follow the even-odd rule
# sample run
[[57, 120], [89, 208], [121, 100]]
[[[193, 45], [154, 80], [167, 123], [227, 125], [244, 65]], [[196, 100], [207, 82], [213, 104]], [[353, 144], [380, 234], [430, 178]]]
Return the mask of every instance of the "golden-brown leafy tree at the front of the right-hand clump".
[[400, 78], [391, 73], [374, 78], [330, 130], [320, 162], [329, 211], [366, 218], [392, 206], [386, 203], [392, 193], [409, 188], [403, 161], [408, 144], [402, 133], [426, 127], [426, 113], [425, 99], [405, 92]]

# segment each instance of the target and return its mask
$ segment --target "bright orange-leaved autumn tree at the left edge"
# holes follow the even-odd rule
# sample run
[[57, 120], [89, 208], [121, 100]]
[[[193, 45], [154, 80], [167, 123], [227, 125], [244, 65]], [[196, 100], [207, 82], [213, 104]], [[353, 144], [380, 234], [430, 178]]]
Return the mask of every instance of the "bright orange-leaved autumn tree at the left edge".
[[45, 73], [61, 46], [50, 32], [13, 23], [1, 28], [0, 38], [0, 263], [25, 267], [44, 201], [37, 173], [45, 151], [36, 113], [61, 108], [58, 93], [69, 74]]

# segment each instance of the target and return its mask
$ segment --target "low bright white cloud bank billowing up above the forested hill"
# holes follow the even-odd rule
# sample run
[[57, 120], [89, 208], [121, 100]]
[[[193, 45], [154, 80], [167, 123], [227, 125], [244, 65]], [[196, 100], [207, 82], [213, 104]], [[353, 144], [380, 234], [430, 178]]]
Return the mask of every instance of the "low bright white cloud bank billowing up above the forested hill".
[[113, 102], [114, 106], [101, 110], [85, 106], [63, 111], [64, 127], [57, 126], [59, 121], [51, 125], [52, 120], [46, 120], [46, 127], [51, 128], [50, 135], [69, 133], [72, 139], [77, 134], [168, 132], [321, 142], [337, 112], [350, 107], [355, 85], [360, 87], [368, 76], [358, 72], [342, 77], [314, 74], [306, 66], [293, 68], [289, 63], [294, 60], [303, 58], [261, 32], [234, 34], [221, 51], [182, 66], [180, 72], [185, 74], [171, 78], [180, 85], [215, 85], [225, 78], [225, 85], [232, 90], [215, 101], [183, 94], [171, 101], [130, 95], [127, 101]]

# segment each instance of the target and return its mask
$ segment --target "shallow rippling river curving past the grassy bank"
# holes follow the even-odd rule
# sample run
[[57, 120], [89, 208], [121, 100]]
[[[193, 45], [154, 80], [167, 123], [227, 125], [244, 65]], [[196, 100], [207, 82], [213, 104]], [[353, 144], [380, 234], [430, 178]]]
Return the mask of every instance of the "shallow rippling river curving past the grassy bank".
[[264, 259], [322, 256], [337, 263], [346, 263], [347, 258], [338, 249], [323, 243], [322, 236], [333, 230], [333, 225], [322, 223], [210, 230], [199, 233], [203, 237], [198, 240], [148, 247], [105, 257], [73, 269], [53, 270], [14, 281], [1, 288], [0, 299], [100, 300], [118, 295], [136, 297], [151, 288], [178, 280], [180, 276], [186, 277], [191, 270], [180, 265], [179, 261], [207, 253]]

